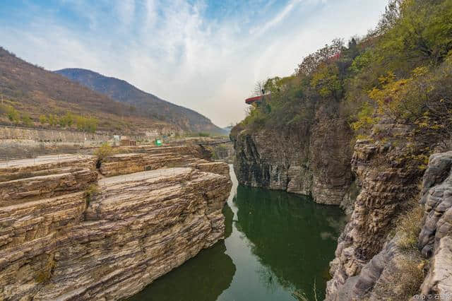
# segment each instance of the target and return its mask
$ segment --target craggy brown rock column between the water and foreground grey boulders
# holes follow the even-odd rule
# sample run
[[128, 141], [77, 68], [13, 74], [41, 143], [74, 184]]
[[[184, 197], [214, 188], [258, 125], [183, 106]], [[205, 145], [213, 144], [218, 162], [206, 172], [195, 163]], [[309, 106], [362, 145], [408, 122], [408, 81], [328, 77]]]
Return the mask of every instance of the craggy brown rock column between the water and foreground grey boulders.
[[[379, 254], [393, 228], [394, 218], [408, 200], [417, 196], [422, 171], [400, 159], [402, 151], [400, 147], [357, 141], [352, 169], [362, 189], [350, 222], [338, 240], [335, 259], [331, 262], [333, 279], [328, 281], [327, 299], [337, 299], [338, 288], [345, 285], [348, 278], [357, 276], [362, 267]], [[378, 261], [381, 259], [375, 262]]]

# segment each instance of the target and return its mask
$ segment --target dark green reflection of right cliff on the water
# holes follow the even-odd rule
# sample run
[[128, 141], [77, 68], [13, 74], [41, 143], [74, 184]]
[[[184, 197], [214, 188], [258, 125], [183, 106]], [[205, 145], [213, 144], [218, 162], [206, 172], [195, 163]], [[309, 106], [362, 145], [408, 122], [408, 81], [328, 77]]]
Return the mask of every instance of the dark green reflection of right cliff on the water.
[[[252, 242], [268, 290], [278, 285], [300, 296], [323, 298], [329, 261], [345, 216], [336, 206], [314, 203], [308, 196], [239, 186], [237, 230]], [[276, 283], [278, 282], [278, 283]]]

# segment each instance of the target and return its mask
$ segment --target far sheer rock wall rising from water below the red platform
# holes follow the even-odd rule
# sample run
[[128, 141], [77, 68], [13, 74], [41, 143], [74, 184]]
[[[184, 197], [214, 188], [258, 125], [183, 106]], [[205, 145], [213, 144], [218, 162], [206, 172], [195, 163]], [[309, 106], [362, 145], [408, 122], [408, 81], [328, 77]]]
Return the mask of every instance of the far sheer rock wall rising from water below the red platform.
[[244, 130], [234, 139], [240, 184], [307, 194], [317, 203], [349, 200], [352, 132], [343, 119], [319, 119], [283, 132]]

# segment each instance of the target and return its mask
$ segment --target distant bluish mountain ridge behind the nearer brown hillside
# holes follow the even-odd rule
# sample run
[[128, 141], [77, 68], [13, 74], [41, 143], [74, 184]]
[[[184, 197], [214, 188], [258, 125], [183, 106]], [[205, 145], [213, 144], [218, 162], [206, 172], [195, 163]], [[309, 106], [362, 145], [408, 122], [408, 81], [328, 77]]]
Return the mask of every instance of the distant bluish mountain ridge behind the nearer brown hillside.
[[176, 124], [185, 131], [227, 134], [198, 112], [157, 98], [121, 79], [103, 76], [87, 69], [61, 69], [54, 72], [113, 100], [132, 106], [147, 117]]

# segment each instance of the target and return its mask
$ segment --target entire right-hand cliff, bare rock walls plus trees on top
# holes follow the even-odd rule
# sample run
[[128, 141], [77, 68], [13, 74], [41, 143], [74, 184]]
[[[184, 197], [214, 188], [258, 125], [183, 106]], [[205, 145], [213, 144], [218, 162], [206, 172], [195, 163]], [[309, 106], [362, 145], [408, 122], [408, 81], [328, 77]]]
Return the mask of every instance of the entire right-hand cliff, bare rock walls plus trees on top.
[[231, 131], [240, 184], [347, 214], [326, 300], [451, 298], [451, 20], [452, 1], [389, 1], [367, 35], [257, 83]]

